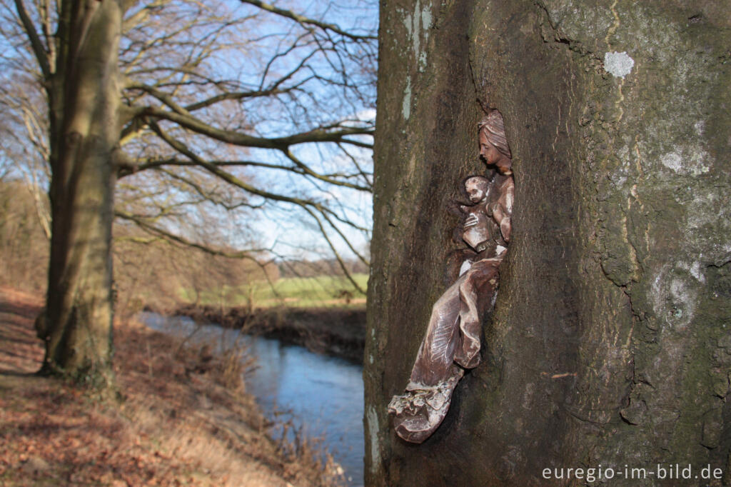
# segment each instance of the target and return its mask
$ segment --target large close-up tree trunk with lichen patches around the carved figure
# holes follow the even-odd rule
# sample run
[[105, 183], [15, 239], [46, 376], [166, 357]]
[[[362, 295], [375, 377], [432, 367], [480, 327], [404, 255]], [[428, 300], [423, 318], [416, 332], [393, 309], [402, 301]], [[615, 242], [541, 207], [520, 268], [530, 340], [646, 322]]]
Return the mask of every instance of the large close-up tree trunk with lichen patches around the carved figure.
[[[652, 485], [670, 464], [731, 483], [727, 13], [721, 0], [382, 2], [368, 485], [583, 484], [600, 466], [622, 472], [613, 485], [640, 485], [633, 468]], [[487, 107], [512, 150], [512, 239], [482, 364], [409, 445], [386, 406], [453, 279], [446, 209], [485, 173]], [[556, 480], [561, 467], [583, 479]]]

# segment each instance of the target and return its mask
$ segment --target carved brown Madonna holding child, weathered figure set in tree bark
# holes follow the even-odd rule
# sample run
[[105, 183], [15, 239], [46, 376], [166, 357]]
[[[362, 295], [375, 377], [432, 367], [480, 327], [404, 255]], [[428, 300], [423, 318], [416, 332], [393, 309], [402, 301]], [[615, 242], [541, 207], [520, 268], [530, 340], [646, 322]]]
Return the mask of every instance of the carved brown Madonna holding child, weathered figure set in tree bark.
[[465, 370], [480, 363], [480, 314], [494, 302], [498, 268], [510, 241], [515, 183], [497, 110], [480, 122], [479, 137], [480, 156], [496, 173], [492, 179], [474, 175], [463, 181], [471, 205], [460, 206], [461, 237], [473, 252], [457, 281], [434, 303], [406, 392], [388, 404], [396, 434], [408, 442], [431, 436], [447, 415]]

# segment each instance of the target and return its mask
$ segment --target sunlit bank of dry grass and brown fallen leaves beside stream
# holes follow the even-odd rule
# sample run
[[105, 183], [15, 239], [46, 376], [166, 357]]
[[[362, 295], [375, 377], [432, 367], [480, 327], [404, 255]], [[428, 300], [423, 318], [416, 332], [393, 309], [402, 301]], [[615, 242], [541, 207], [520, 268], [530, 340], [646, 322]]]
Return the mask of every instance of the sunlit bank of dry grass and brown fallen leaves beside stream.
[[0, 288], [0, 486], [336, 482], [337, 465], [322, 465], [301, 435], [295, 445], [268, 437], [270, 423], [236, 382], [244, 350], [221, 358], [200, 348], [176, 353], [169, 336], [117, 325], [121, 401], [104, 401], [30, 375], [42, 360], [32, 327], [39, 304]]

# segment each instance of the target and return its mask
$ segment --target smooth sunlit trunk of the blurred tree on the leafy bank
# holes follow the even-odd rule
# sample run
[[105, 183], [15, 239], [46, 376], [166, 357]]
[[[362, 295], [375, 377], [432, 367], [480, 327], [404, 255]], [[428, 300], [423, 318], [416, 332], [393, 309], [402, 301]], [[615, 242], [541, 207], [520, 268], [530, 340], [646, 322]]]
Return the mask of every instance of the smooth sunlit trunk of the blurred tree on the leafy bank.
[[53, 218], [42, 372], [95, 385], [112, 380], [115, 171], [120, 133], [121, 6], [64, 2], [49, 83]]

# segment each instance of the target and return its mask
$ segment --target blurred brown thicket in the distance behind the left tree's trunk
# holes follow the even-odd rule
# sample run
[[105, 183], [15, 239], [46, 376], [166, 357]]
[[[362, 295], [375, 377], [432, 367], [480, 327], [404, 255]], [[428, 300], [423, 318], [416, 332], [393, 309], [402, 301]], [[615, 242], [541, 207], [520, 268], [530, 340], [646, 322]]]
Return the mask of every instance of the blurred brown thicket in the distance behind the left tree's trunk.
[[[41, 223], [44, 211], [48, 211], [45, 194], [39, 197], [24, 181], [0, 178], [0, 284], [45, 290], [49, 241]], [[135, 313], [145, 305], [173, 309], [181, 301], [210, 301], [211, 292], [216, 290], [222, 293], [216, 301], [224, 302], [229, 299], [224, 292], [239, 292], [250, 283], [273, 283], [280, 277], [344, 274], [334, 259], [274, 261], [253, 252], [243, 258], [224, 257], [144, 233], [124, 222], [115, 224], [113, 233], [118, 315]], [[225, 246], [220, 250], [234, 253]], [[360, 261], [349, 260], [344, 265], [349, 273], [368, 272]]]

